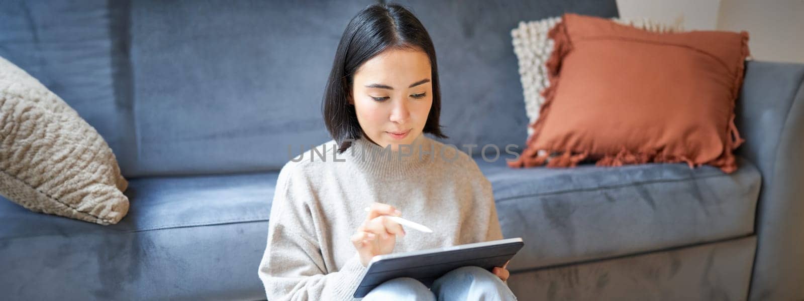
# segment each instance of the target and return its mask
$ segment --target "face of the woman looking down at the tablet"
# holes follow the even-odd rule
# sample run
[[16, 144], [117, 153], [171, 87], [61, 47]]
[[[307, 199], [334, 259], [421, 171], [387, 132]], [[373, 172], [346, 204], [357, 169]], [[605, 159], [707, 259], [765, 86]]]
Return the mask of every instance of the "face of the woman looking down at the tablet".
[[379, 146], [411, 144], [433, 105], [430, 61], [424, 51], [389, 49], [355, 72], [350, 104], [360, 127]]

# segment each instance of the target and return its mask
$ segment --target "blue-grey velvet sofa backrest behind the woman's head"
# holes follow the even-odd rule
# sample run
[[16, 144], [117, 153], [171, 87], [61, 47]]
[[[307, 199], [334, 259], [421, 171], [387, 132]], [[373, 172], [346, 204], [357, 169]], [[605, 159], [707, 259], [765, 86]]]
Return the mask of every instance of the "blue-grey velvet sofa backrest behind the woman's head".
[[[338, 40], [371, 0], [3, 1], [0, 56], [109, 142], [126, 177], [279, 169], [330, 140], [322, 92]], [[614, 0], [400, 1], [427, 27], [445, 143], [527, 138], [511, 29]]]

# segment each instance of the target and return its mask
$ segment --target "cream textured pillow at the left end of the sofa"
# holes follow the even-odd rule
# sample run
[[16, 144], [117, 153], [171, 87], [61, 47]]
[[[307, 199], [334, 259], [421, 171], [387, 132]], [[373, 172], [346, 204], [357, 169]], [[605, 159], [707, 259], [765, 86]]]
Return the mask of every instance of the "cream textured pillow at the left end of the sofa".
[[126, 186], [95, 128], [0, 57], [0, 194], [35, 212], [109, 225], [129, 211]]

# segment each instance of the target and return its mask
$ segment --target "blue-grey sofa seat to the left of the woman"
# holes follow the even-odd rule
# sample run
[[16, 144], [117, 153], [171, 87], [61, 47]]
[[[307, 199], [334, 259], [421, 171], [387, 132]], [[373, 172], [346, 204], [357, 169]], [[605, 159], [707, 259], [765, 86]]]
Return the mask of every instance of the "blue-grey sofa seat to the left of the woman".
[[112, 226], [0, 199], [0, 291], [19, 299], [263, 299], [256, 267], [277, 176], [132, 179], [129, 214]]

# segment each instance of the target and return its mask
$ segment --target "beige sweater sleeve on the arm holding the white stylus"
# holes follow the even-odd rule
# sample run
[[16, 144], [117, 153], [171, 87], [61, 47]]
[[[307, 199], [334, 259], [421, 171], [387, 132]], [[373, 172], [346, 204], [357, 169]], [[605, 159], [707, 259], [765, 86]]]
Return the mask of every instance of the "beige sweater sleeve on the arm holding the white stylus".
[[265, 295], [271, 301], [351, 300], [366, 267], [355, 251], [340, 270], [327, 270], [304, 202], [312, 193], [307, 185], [294, 185], [302, 179], [291, 168], [285, 165], [280, 172], [271, 205], [268, 243], [258, 273]]

